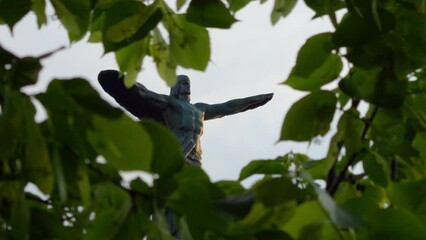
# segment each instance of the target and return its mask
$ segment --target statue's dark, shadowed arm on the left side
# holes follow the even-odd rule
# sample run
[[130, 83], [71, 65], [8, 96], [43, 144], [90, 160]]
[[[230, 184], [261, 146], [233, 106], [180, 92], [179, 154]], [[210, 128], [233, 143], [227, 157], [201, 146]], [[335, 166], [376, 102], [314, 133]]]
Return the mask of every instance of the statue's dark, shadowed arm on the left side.
[[145, 86], [136, 83], [131, 88], [124, 85], [123, 77], [116, 70], [104, 70], [98, 75], [102, 88], [122, 107], [139, 119], [149, 118], [165, 124], [163, 109], [160, 104], [147, 98]]

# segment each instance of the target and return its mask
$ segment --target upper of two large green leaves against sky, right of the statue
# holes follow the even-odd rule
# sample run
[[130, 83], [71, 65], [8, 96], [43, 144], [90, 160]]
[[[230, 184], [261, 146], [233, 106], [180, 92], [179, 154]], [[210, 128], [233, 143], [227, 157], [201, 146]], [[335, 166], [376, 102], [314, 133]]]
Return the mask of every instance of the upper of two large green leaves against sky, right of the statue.
[[336, 79], [343, 63], [337, 54], [331, 53], [333, 48], [331, 33], [309, 38], [299, 50], [296, 66], [284, 83], [297, 90], [313, 91]]

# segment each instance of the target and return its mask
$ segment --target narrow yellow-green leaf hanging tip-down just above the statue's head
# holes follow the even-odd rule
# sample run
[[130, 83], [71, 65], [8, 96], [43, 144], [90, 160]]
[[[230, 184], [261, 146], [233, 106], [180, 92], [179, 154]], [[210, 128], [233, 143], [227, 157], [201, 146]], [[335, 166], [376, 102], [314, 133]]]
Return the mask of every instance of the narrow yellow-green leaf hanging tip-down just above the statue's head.
[[176, 81], [176, 61], [171, 57], [170, 48], [157, 28], [154, 29], [149, 50], [157, 64], [158, 74], [168, 86], [173, 86]]

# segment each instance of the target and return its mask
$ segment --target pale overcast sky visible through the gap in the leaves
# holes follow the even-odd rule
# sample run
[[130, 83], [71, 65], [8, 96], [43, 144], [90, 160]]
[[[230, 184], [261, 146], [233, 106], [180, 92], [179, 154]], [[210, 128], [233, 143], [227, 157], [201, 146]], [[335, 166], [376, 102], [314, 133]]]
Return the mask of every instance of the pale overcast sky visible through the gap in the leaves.
[[[254, 159], [272, 159], [290, 151], [308, 153], [318, 159], [324, 157], [328, 147], [325, 139], [322, 139], [323, 144], [310, 145], [277, 143], [277, 140], [287, 110], [305, 95], [280, 83], [293, 67], [306, 39], [329, 31], [331, 25], [326, 18], [312, 21], [314, 13], [299, 1], [287, 18], [272, 26], [269, 17], [272, 4], [271, 0], [263, 5], [252, 2], [236, 14], [240, 21], [230, 30], [209, 30], [212, 54], [205, 72], [178, 70], [178, 74], [191, 78], [191, 101], [194, 103], [219, 103], [261, 93], [275, 94], [260, 108], [205, 122], [201, 139], [203, 168], [214, 181], [237, 179], [241, 168]], [[51, 21], [38, 30], [32, 14], [15, 26], [13, 35], [7, 27], [0, 26], [0, 36], [0, 44], [18, 56], [37, 56], [60, 46], [67, 47], [43, 61], [39, 83], [26, 88], [26, 92], [45, 91], [54, 78], [83, 77], [102, 98], [117, 105], [96, 80], [100, 70], [117, 69], [112, 54], [103, 56], [101, 44], [82, 40], [70, 46], [59, 21]], [[145, 59], [138, 81], [158, 93], [169, 93], [151, 58]], [[40, 120], [44, 116], [43, 111], [39, 111], [37, 118]]]

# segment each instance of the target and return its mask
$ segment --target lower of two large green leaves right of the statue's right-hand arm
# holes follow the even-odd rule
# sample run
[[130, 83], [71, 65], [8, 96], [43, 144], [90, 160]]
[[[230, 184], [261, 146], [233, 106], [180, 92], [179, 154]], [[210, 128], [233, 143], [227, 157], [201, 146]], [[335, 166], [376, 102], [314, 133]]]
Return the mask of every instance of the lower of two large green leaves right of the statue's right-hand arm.
[[330, 129], [337, 98], [329, 91], [316, 91], [297, 101], [287, 113], [280, 140], [309, 141]]

